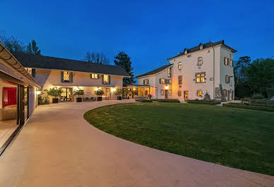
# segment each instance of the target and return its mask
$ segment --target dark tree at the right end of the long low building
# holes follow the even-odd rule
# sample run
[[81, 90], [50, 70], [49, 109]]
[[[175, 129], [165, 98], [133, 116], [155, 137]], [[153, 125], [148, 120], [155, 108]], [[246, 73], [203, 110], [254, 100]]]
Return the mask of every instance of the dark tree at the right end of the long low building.
[[114, 57], [114, 63], [115, 65], [118, 65], [120, 67], [123, 67], [126, 72], [129, 73], [131, 77], [124, 77], [123, 79], [123, 84], [124, 86], [128, 86], [131, 84], [136, 83], [134, 80], [134, 75], [133, 75], [133, 68], [131, 67], [131, 58], [124, 52], [120, 51], [117, 56]]

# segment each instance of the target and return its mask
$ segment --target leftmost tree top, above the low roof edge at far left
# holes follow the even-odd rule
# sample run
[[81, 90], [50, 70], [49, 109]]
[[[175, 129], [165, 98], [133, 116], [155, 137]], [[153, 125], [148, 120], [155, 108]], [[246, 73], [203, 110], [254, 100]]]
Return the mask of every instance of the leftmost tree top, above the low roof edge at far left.
[[14, 36], [8, 37], [3, 30], [0, 31], [0, 42], [4, 44], [6, 49], [8, 49], [8, 51], [11, 51], [11, 53], [14, 53], [14, 52], [25, 53], [25, 46], [23, 42], [18, 40]]

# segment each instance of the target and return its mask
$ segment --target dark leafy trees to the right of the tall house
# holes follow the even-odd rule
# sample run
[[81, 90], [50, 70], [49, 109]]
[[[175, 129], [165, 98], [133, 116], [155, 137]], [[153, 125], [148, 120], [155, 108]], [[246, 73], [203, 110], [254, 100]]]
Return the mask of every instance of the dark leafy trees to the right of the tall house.
[[274, 96], [274, 59], [258, 58], [251, 62], [242, 56], [234, 63], [235, 96], [270, 98]]

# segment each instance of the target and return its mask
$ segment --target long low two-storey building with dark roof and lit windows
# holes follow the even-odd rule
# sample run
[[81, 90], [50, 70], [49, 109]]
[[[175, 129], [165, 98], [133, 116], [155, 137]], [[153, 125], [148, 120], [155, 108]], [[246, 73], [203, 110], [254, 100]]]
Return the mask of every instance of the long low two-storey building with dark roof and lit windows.
[[25, 53], [15, 53], [14, 56], [39, 82], [42, 90], [49, 90], [54, 86], [61, 88], [61, 101], [76, 101], [78, 96], [73, 96], [73, 91], [77, 89], [84, 90], [82, 98], [96, 97], [95, 91], [102, 89], [103, 99], [117, 99], [113, 94], [114, 89], [122, 89], [123, 77], [129, 76], [123, 68], [115, 65]]

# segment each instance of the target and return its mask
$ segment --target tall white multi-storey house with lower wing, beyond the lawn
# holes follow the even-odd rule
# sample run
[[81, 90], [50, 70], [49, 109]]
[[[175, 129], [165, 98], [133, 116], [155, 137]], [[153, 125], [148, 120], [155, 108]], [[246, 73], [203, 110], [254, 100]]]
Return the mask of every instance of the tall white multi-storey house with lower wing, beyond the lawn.
[[199, 44], [168, 58], [169, 64], [139, 75], [138, 85], [149, 86], [153, 98], [234, 99], [233, 53], [225, 41]]

